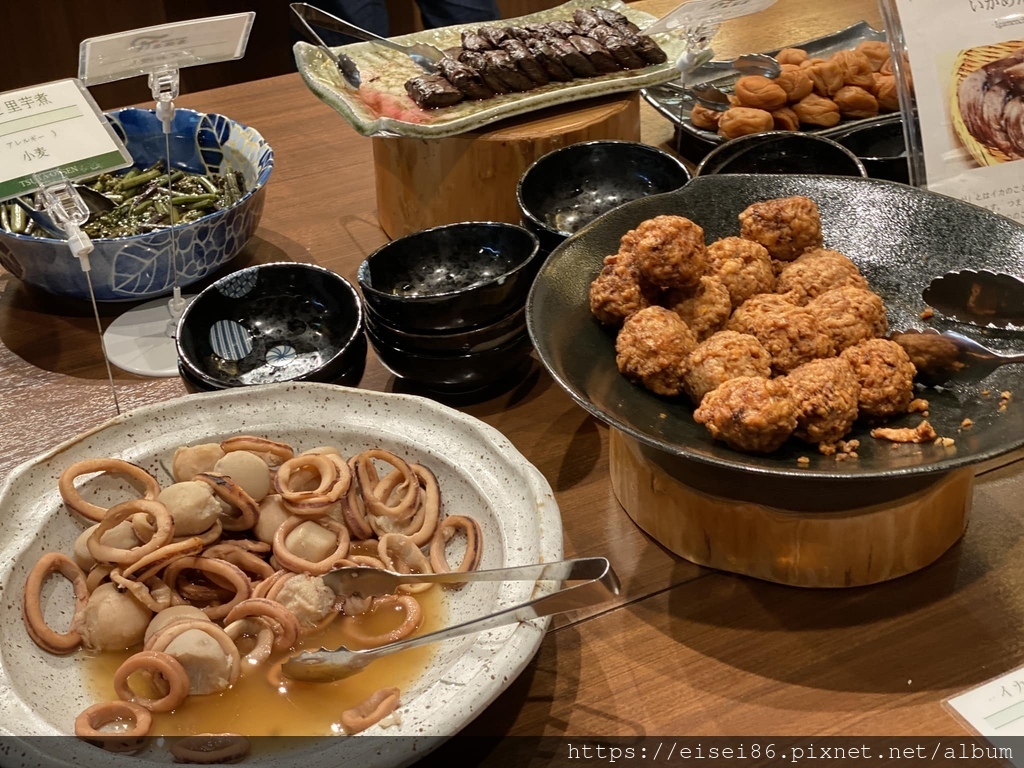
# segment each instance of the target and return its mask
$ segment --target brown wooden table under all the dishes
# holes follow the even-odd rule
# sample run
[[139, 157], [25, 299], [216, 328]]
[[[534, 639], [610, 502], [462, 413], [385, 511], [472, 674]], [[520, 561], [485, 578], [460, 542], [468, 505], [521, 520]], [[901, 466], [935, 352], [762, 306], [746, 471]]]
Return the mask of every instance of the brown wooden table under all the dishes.
[[[716, 49], [768, 49], [861, 18], [880, 24], [873, 0], [779, 0], [756, 20], [723, 28]], [[385, 242], [370, 140], [297, 75], [183, 96], [180, 105], [254, 125], [275, 151], [266, 212], [243, 261], [314, 261], [354, 281], [359, 261]], [[652, 111], [644, 121], [648, 142], [670, 141]], [[0, 286], [6, 473], [113, 410], [88, 307], [13, 279], [0, 276]], [[184, 394], [176, 379], [118, 373], [117, 386], [128, 409]], [[403, 389], [372, 355], [361, 386]], [[504, 432], [551, 482], [566, 556], [606, 555], [624, 585], [617, 605], [556, 623], [470, 732], [964, 734], [940, 702], [1024, 664], [1019, 464], [983, 474], [966, 538], [934, 566], [873, 588], [802, 591], [702, 570], [648, 540], [612, 497], [607, 429], [539, 366], [511, 393], [463, 410]]]

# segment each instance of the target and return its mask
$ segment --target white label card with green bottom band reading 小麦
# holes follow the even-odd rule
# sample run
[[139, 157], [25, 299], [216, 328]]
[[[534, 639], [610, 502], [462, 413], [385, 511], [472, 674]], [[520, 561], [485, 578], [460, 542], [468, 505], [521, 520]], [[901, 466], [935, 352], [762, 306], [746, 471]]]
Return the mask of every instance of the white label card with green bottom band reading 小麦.
[[79, 80], [0, 93], [0, 201], [131, 165], [131, 155]]

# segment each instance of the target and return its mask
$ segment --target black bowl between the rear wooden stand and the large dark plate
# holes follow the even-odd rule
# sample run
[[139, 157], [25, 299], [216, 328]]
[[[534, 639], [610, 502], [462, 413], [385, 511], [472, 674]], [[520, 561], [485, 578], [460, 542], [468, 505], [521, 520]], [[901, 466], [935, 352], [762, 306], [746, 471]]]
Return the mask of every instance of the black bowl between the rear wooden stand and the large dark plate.
[[539, 158], [519, 179], [522, 223], [550, 251], [595, 218], [631, 200], [690, 180], [681, 161], [635, 141], [584, 141]]

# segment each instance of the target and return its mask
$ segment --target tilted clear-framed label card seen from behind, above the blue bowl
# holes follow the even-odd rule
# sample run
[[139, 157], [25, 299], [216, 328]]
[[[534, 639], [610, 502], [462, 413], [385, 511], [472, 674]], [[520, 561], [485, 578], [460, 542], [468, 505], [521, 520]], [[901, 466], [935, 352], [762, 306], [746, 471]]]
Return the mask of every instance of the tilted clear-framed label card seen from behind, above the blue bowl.
[[78, 76], [98, 85], [242, 58], [255, 17], [252, 11], [231, 13], [89, 38], [79, 46]]

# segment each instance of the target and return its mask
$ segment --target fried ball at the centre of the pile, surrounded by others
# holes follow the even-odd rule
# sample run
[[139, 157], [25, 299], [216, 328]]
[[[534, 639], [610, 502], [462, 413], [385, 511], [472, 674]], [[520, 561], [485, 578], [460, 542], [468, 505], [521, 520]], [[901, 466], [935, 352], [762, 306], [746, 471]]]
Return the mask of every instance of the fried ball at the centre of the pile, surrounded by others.
[[756, 337], [771, 355], [772, 372], [778, 376], [836, 353], [831, 337], [807, 307], [775, 294], [748, 299], [732, 313], [726, 329]]

